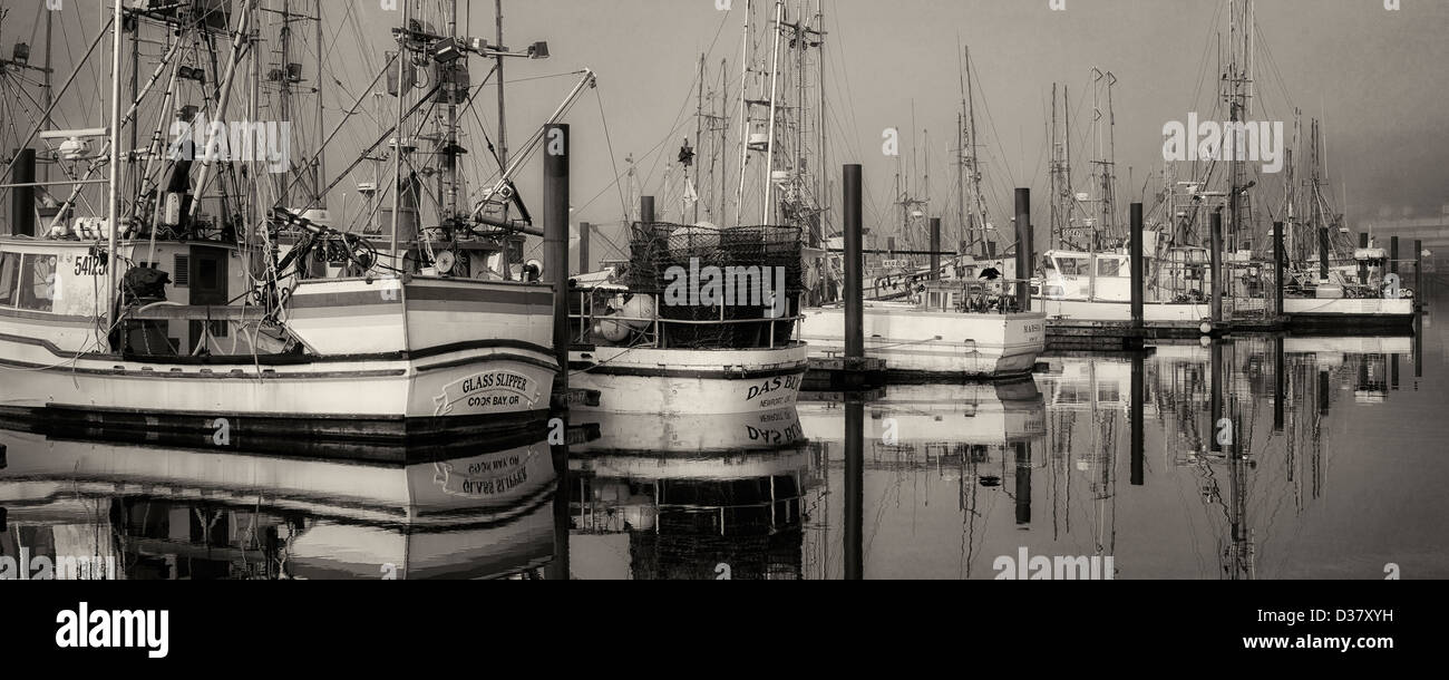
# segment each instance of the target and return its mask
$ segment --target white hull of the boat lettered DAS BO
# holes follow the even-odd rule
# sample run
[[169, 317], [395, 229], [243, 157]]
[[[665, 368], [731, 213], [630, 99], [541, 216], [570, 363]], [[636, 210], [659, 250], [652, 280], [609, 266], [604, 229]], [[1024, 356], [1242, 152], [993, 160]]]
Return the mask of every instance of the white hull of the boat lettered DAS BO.
[[788, 409], [800, 399], [803, 345], [775, 349], [611, 348], [569, 352], [569, 389], [598, 393], [580, 412], [732, 415]]

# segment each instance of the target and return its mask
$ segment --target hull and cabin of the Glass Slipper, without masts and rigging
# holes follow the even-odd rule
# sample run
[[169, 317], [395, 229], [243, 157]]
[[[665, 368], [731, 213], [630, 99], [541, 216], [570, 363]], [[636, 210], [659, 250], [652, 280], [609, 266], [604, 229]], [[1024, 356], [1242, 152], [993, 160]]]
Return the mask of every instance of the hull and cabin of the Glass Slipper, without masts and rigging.
[[[183, 428], [219, 442], [406, 439], [516, 425], [548, 409], [558, 368], [546, 286], [306, 281], [270, 323], [264, 307], [226, 304], [252, 290], [236, 248], [122, 241], [120, 261], [180, 262], [196, 278], [122, 307], [110, 335], [109, 296], [97, 302], [104, 267], [87, 264], [91, 252], [81, 241], [0, 238], [0, 409]], [[178, 299], [196, 304], [168, 302]]]

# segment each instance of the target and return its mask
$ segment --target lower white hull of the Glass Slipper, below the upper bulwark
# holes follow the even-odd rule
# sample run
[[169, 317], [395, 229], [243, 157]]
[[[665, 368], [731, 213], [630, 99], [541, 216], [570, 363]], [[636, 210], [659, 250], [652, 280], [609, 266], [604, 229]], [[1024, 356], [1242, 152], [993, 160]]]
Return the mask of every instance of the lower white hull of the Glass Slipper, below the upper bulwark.
[[0, 410], [87, 436], [220, 449], [296, 436], [407, 444], [536, 426], [555, 367], [513, 347], [138, 361], [0, 335]]

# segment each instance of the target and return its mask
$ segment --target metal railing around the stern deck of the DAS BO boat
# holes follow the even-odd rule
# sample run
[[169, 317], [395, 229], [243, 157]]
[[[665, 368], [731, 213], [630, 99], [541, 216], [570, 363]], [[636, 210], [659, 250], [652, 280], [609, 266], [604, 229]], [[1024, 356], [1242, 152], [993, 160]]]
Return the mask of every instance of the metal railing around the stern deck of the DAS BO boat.
[[655, 349], [777, 349], [798, 338], [800, 294], [791, 293], [780, 316], [764, 306], [659, 304], [662, 291], [619, 286], [575, 289], [569, 333], [575, 345]]

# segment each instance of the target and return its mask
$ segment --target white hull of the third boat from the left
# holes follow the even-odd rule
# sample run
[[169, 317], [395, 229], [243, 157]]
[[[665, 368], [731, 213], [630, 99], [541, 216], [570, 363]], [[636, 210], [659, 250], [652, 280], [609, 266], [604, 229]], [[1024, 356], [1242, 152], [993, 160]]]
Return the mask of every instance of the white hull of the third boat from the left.
[[[1046, 347], [1046, 315], [961, 315], [877, 303], [864, 313], [865, 355], [895, 377], [998, 380], [1032, 373]], [[811, 360], [845, 355], [845, 310], [804, 313]]]

